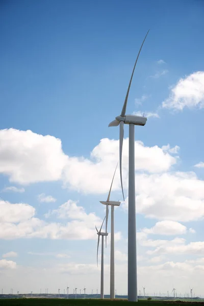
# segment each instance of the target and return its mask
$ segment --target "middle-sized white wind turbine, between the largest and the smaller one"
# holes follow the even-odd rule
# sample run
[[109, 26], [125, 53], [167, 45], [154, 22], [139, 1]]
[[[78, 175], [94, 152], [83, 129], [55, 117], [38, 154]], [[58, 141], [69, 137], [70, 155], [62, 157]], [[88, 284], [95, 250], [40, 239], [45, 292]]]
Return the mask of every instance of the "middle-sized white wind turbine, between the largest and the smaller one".
[[[117, 164], [118, 165], [118, 164]], [[116, 172], [117, 166], [115, 168]], [[114, 263], [114, 206], [120, 206], [120, 202], [110, 201], [111, 188], [113, 185], [113, 180], [115, 176], [115, 172], [113, 174], [113, 179], [111, 182], [111, 187], [109, 190], [108, 198], [106, 201], [100, 201], [100, 203], [106, 205], [106, 233], [108, 226], [108, 215], [109, 215], [109, 205], [111, 206], [111, 265], [110, 265], [110, 298], [115, 298], [115, 263]], [[107, 236], [106, 236], [106, 244], [107, 244]]]

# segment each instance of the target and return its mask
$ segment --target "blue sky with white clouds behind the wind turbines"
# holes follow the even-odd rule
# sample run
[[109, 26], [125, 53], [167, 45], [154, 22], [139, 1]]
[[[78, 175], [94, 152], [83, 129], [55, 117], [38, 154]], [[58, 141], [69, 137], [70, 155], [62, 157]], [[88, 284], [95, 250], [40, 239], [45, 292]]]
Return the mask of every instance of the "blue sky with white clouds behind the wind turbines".
[[[94, 226], [105, 215], [98, 201], [106, 199], [118, 160], [118, 129], [108, 124], [120, 114], [150, 29], [127, 104], [127, 113], [148, 116], [135, 133], [138, 290], [146, 286], [154, 293], [160, 286], [167, 292], [172, 281], [178, 293], [188, 291], [189, 282], [202, 293], [203, 10], [198, 0], [1, 3], [0, 278], [5, 292], [39, 292], [43, 286], [57, 292], [67, 285], [99, 289]], [[125, 126], [125, 138], [127, 133]], [[112, 196], [122, 198], [118, 173]], [[121, 294], [127, 291], [126, 202], [115, 213]], [[108, 245], [105, 293], [109, 251]]]

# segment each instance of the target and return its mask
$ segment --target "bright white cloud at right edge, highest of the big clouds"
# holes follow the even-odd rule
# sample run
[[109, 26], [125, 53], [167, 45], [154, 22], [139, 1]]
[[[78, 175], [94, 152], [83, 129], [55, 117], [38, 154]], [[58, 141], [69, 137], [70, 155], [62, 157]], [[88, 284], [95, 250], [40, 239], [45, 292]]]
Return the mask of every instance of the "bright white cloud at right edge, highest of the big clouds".
[[180, 79], [172, 87], [170, 95], [163, 101], [162, 107], [180, 111], [185, 107], [204, 107], [204, 71], [197, 71]]

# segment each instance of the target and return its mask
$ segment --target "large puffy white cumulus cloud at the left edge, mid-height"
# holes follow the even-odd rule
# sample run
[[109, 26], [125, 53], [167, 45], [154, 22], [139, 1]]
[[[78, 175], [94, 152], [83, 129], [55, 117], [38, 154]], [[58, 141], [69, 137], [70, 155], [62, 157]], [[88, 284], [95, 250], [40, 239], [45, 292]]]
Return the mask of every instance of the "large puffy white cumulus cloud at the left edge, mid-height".
[[32, 131], [0, 130], [0, 173], [11, 182], [29, 184], [61, 178], [67, 156], [61, 140]]

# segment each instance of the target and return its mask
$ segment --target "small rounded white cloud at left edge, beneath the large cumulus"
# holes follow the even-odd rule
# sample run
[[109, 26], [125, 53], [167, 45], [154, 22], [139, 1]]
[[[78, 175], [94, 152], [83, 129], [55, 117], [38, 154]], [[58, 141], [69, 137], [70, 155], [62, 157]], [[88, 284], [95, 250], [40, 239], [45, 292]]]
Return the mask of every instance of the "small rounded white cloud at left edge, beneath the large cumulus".
[[0, 200], [0, 222], [20, 222], [32, 218], [35, 215], [35, 208], [24, 203], [12, 204]]

